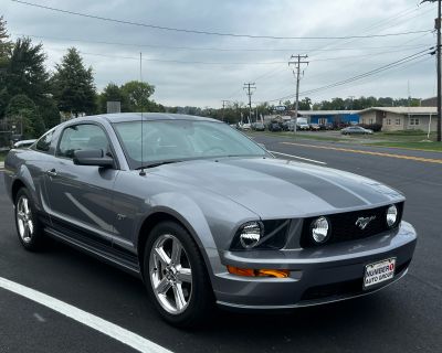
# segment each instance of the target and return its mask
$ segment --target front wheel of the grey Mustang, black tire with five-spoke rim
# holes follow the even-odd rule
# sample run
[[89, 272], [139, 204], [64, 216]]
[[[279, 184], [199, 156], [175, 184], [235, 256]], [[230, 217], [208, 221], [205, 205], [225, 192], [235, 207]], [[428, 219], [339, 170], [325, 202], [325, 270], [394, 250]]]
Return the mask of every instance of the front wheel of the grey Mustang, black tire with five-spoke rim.
[[[181, 247], [175, 253], [181, 255], [173, 256], [172, 247]], [[154, 227], [143, 267], [147, 292], [164, 320], [179, 328], [204, 322], [213, 309], [213, 291], [198, 246], [181, 225], [164, 222]]]

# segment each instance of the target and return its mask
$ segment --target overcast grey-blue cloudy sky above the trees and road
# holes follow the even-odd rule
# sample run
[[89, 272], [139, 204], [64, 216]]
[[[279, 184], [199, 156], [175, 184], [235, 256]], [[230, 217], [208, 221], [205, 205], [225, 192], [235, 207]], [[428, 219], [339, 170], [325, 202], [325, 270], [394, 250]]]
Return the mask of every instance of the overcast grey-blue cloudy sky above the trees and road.
[[[431, 30], [436, 7], [419, 6], [421, 0], [25, 0], [158, 26], [301, 39], [166, 31], [0, 1], [13, 39], [28, 35], [42, 42], [50, 69], [67, 47], [76, 46], [94, 68], [98, 90], [109, 82], [138, 79], [143, 52], [144, 79], [156, 86], [154, 99], [167, 106], [245, 101], [242, 86], [248, 82], [256, 84], [253, 101], [277, 104], [295, 92], [293, 67], [287, 65], [292, 54], [308, 55], [301, 98], [435, 94], [435, 60], [425, 50], [435, 42]], [[419, 31], [427, 32], [379, 36]], [[376, 36], [315, 39], [355, 35]], [[309, 93], [393, 62], [396, 67]]]

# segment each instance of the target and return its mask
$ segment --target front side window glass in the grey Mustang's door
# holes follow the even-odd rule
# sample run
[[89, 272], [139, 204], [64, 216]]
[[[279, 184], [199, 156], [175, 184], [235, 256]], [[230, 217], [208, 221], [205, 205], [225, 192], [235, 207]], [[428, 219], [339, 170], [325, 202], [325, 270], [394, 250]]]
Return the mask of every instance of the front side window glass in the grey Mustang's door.
[[109, 147], [103, 129], [93, 124], [73, 125], [63, 130], [56, 154], [73, 158], [77, 150], [98, 150], [107, 152]]

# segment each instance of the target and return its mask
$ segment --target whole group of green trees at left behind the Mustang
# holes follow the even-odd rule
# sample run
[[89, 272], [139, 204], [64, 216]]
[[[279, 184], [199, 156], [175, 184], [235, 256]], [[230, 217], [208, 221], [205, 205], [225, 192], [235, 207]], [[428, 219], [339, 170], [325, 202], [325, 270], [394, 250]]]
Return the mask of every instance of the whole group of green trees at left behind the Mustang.
[[0, 17], [2, 130], [14, 127], [23, 138], [38, 137], [63, 118], [106, 113], [108, 100], [120, 101], [122, 111], [165, 111], [150, 99], [155, 87], [148, 83], [109, 83], [97, 93], [93, 67], [85, 66], [75, 47], [70, 47], [53, 71], [48, 71], [43, 45], [29, 38], [12, 42], [6, 25]]

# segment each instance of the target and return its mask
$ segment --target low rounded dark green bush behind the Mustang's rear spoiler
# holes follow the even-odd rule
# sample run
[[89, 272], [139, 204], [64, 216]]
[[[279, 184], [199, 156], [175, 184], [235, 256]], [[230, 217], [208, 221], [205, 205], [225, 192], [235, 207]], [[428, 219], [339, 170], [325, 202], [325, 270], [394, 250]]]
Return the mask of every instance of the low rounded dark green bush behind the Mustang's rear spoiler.
[[6, 115], [25, 139], [39, 137], [45, 131], [35, 104], [25, 95], [13, 96]]

